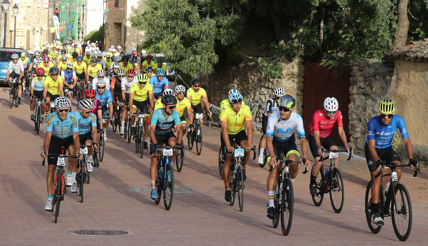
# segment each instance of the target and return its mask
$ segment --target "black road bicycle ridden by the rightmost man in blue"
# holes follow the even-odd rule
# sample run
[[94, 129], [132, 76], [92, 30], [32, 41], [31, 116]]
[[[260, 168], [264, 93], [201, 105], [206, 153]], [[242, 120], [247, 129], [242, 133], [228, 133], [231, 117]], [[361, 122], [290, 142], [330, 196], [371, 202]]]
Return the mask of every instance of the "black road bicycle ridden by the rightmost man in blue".
[[[379, 156], [382, 160], [382, 157]], [[410, 195], [407, 191], [407, 188], [398, 182], [397, 172], [395, 171], [396, 167], [410, 167], [410, 164], [398, 164], [398, 162], [393, 162], [391, 164], [386, 164], [383, 161], [382, 170], [377, 173], [376, 178], [383, 173], [384, 168], [391, 169], [391, 173], [383, 175], [383, 177], [389, 178], [389, 187], [386, 186], [386, 190], [383, 189], [383, 184], [380, 183], [380, 203], [379, 203], [379, 213], [382, 219], [384, 217], [391, 217], [392, 227], [394, 228], [395, 235], [400, 241], [405, 241], [410, 236], [410, 231], [412, 230], [412, 203], [410, 202]], [[419, 170], [419, 167], [416, 165], [415, 173], [413, 177], [416, 177]], [[382, 178], [383, 178], [382, 177]], [[372, 208], [372, 185], [373, 180], [370, 180], [366, 188], [366, 198], [365, 198], [365, 211], [367, 224], [369, 225], [370, 231], [377, 234], [384, 222], [373, 222], [373, 208]]]

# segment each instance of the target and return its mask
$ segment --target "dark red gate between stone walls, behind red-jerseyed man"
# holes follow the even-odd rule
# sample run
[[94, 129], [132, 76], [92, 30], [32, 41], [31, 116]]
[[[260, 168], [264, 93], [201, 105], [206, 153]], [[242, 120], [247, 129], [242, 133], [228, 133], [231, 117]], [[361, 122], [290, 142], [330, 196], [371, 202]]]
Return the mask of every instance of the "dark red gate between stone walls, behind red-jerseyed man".
[[[349, 68], [338, 69], [320, 66], [319, 63], [306, 62], [305, 64], [305, 82], [303, 98], [303, 124], [306, 134], [309, 135], [309, 124], [312, 121], [312, 115], [318, 109], [324, 108], [324, 99], [326, 97], [335, 97], [339, 102], [339, 110], [343, 115], [343, 129], [349, 141], [349, 79], [351, 78]], [[337, 124], [336, 124], [337, 126]], [[339, 133], [333, 129], [332, 135], [336, 144], [343, 146], [339, 138]]]

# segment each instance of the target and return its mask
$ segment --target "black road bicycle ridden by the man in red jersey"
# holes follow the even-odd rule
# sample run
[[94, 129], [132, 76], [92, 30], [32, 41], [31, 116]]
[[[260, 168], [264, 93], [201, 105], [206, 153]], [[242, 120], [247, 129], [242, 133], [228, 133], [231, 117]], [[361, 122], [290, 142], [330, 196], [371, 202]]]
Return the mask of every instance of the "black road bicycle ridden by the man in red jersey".
[[[317, 193], [315, 196], [312, 196], [312, 201], [315, 206], [320, 206], [324, 199], [324, 193], [330, 193], [331, 206], [334, 212], [339, 214], [342, 211], [343, 202], [345, 200], [345, 187], [343, 186], [342, 174], [340, 174], [339, 168], [334, 165], [334, 158], [339, 155], [339, 152], [347, 152], [347, 150], [324, 150], [324, 148], [321, 148], [321, 152], [321, 160], [325, 161], [330, 159], [330, 168], [324, 173], [324, 167], [321, 165], [315, 181]], [[329, 156], [324, 158], [324, 153], [329, 153]], [[351, 160], [352, 156], [352, 147], [350, 147], [347, 161]], [[314, 166], [312, 166], [312, 168], [313, 167]]]

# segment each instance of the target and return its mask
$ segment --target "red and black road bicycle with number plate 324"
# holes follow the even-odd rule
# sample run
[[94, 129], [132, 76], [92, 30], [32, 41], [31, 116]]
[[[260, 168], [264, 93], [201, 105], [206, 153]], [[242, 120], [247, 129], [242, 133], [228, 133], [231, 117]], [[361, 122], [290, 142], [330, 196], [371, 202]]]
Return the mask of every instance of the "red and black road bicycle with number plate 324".
[[[78, 158], [74, 155], [65, 155], [65, 148], [64, 146], [61, 147], [61, 153], [60, 155], [55, 154], [48, 154], [48, 157], [58, 157], [58, 160], [56, 161], [56, 175], [53, 182], [53, 190], [52, 190], [52, 197], [53, 197], [53, 206], [51, 212], [53, 212], [53, 207], [55, 208], [55, 223], [58, 220], [59, 216], [59, 205], [61, 201], [64, 201], [64, 195], [67, 193], [67, 189], [65, 189], [65, 157], [68, 158]], [[45, 150], [46, 155], [46, 150]], [[45, 157], [42, 159], [42, 166], [45, 166]]]

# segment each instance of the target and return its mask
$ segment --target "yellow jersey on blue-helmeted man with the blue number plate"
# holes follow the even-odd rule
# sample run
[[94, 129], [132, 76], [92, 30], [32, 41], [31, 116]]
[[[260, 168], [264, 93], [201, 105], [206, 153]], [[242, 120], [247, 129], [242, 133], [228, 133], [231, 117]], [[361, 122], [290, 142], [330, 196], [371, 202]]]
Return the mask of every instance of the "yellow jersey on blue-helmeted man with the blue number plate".
[[232, 109], [232, 107], [225, 107], [220, 112], [220, 121], [227, 122], [227, 133], [230, 135], [237, 134], [244, 129], [244, 123], [246, 120], [253, 120], [251, 115], [250, 107], [247, 105], [241, 106], [238, 112]]

